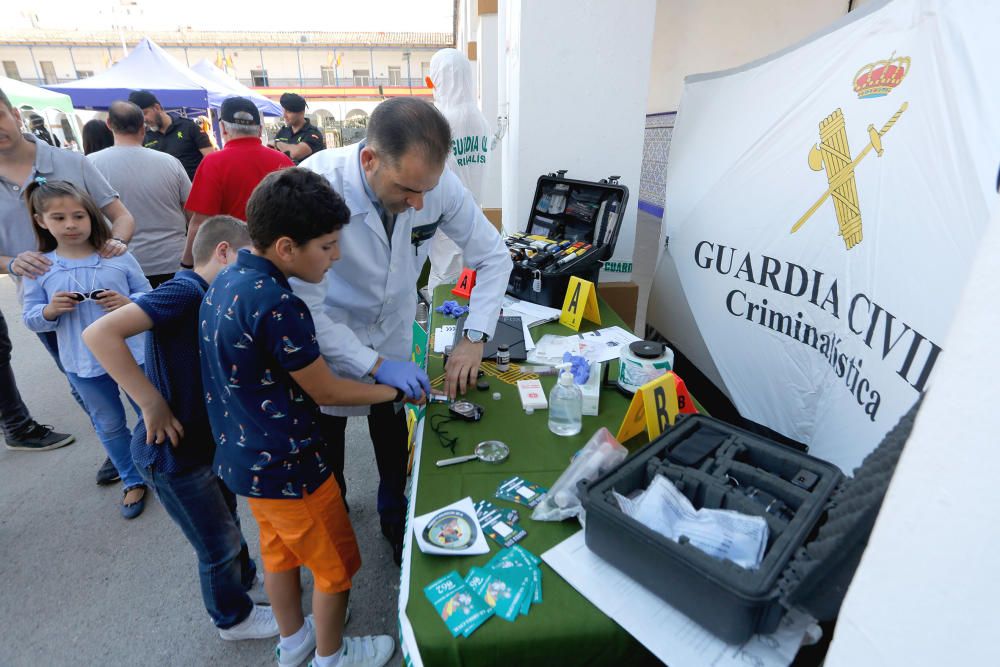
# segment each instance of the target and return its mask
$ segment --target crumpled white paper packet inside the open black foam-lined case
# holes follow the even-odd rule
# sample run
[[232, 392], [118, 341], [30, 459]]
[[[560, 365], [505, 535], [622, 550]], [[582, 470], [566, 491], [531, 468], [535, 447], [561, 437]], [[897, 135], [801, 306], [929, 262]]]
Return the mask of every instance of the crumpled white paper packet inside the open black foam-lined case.
[[696, 510], [663, 475], [654, 477], [638, 498], [614, 494], [624, 514], [674, 542], [683, 535], [713, 558], [731, 560], [751, 570], [760, 567], [767, 547], [767, 521], [763, 517], [732, 510]]

